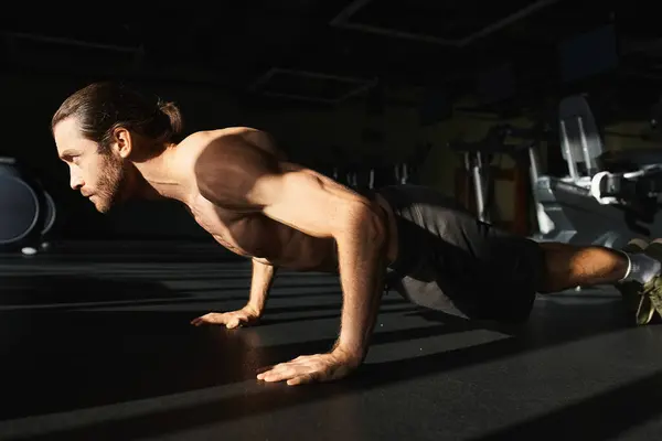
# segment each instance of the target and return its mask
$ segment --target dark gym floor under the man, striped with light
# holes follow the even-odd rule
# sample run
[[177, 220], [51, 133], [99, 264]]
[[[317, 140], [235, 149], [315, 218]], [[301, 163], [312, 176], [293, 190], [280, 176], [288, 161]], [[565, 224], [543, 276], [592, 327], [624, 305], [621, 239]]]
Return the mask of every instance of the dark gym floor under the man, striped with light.
[[194, 327], [241, 308], [250, 268], [214, 247], [60, 246], [0, 256], [0, 439], [654, 440], [662, 327], [610, 290], [541, 298], [521, 329], [384, 298], [370, 355], [331, 384], [256, 370], [329, 348], [337, 278], [281, 272], [256, 327]]

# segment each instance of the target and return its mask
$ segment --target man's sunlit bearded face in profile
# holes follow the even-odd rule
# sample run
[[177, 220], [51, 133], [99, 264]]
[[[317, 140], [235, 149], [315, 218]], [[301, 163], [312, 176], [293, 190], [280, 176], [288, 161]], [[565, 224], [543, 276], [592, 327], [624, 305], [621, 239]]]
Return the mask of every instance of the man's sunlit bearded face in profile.
[[74, 118], [55, 126], [58, 157], [70, 168], [70, 185], [88, 197], [100, 213], [107, 213], [122, 198], [127, 172], [122, 158], [114, 151], [99, 153], [96, 142], [81, 136]]

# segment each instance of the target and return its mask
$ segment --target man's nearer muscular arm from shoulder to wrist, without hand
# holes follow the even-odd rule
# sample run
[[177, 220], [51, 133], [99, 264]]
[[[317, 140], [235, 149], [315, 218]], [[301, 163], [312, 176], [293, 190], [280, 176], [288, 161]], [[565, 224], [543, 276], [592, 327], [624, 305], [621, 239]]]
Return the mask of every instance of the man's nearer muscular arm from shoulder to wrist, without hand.
[[201, 194], [220, 206], [260, 212], [308, 235], [335, 239], [343, 305], [333, 352], [360, 364], [383, 292], [386, 232], [378, 207], [242, 138], [210, 144], [197, 161], [196, 178]]

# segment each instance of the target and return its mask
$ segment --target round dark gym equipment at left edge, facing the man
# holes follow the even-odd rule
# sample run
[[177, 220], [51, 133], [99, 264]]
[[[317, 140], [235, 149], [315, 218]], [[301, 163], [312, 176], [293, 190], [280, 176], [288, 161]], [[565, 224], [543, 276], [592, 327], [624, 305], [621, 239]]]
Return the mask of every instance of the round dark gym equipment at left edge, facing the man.
[[13, 158], [0, 157], [0, 250], [34, 254], [45, 248], [55, 224], [55, 203]]

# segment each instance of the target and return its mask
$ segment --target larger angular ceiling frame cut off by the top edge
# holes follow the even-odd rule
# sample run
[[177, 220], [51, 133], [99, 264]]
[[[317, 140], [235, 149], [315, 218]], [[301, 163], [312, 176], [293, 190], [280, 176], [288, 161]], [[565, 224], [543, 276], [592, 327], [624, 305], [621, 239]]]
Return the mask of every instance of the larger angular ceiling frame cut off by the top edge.
[[370, 1], [372, 1], [372, 0], [355, 0], [355, 1], [353, 1], [345, 9], [343, 9], [335, 18], [333, 18], [333, 20], [331, 20], [330, 24], [332, 26], [337, 26], [337, 28], [343, 28], [343, 29], [374, 33], [374, 34], [388, 35], [388, 36], [394, 36], [396, 39], [414, 40], [414, 41], [419, 41], [419, 42], [424, 42], [424, 43], [434, 43], [434, 44], [440, 44], [440, 45], [446, 45], [446, 46], [462, 47], [462, 46], [466, 46], [466, 45], [472, 43], [473, 41], [476, 41], [478, 39], [481, 39], [483, 36], [487, 36], [489, 34], [500, 30], [501, 28], [505, 28], [506, 25], [509, 25], [511, 23], [522, 20], [525, 17], [536, 12], [540, 9], [543, 9], [551, 4], [557, 3], [559, 0], [538, 0], [535, 3], [532, 3], [524, 9], [513, 12], [512, 14], [510, 14], [494, 23], [487, 25], [485, 28], [483, 28], [480, 31], [474, 32], [473, 34], [467, 35], [463, 39], [459, 39], [459, 40], [448, 40], [448, 39], [441, 39], [441, 37], [434, 36], [434, 35], [415, 34], [415, 33], [410, 33], [410, 32], [397, 31], [395, 29], [372, 26], [370, 24], [361, 24], [361, 23], [350, 22], [349, 21], [350, 18], [353, 14], [355, 14], [361, 8], [365, 7]]

